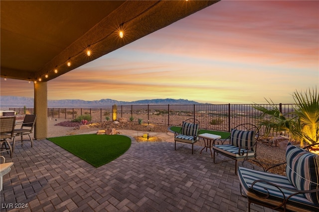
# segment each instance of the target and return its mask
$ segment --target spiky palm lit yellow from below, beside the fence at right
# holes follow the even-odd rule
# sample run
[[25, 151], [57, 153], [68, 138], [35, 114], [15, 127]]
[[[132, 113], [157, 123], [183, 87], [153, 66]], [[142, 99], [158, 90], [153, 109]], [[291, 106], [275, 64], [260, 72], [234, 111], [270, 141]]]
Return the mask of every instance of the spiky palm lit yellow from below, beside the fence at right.
[[[319, 93], [316, 89], [306, 91], [304, 94], [296, 91], [293, 94], [296, 103], [294, 110], [287, 114], [282, 114], [272, 101], [267, 102], [271, 109], [263, 106], [254, 105], [257, 110], [262, 111], [260, 125], [265, 126], [265, 134], [269, 135], [271, 131], [285, 131], [290, 139], [297, 140], [304, 145], [315, 144], [319, 142]], [[269, 119], [266, 119], [268, 116]]]

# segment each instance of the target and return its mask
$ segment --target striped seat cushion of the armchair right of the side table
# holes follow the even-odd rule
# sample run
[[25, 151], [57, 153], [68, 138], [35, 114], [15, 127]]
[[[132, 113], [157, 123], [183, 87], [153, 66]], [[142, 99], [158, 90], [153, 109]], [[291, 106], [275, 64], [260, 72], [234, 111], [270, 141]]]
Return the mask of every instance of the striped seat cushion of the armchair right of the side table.
[[[230, 145], [230, 144], [226, 144], [226, 145], [213, 145], [213, 150], [216, 151], [216, 152], [219, 152], [223, 155], [227, 155], [228, 157], [230, 158], [233, 158], [233, 159], [242, 159], [242, 158], [245, 158], [246, 155], [247, 155], [247, 150], [246, 149], [241, 149], [241, 153], [244, 152], [243, 155], [239, 155], [238, 154], [238, 150], [239, 150], [239, 147], [237, 146], [233, 146], [233, 145]], [[255, 152], [254, 151], [248, 151], [248, 158], [251, 158], [251, 157], [255, 157]]]

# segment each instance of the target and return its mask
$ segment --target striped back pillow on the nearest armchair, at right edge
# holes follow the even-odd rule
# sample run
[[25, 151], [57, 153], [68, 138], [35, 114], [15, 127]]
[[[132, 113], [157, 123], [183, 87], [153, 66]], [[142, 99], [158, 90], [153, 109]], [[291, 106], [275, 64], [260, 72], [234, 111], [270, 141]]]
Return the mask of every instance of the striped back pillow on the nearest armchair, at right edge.
[[[288, 143], [286, 160], [287, 178], [298, 190], [319, 189], [319, 155]], [[319, 192], [305, 196], [319, 206]]]

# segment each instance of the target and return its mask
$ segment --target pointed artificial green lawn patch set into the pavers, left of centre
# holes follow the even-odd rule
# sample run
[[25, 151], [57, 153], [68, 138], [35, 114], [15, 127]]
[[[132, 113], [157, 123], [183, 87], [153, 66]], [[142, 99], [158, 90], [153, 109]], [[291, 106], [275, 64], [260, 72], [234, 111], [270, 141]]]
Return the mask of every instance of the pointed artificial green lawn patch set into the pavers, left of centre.
[[99, 167], [123, 155], [131, 146], [131, 138], [124, 135], [70, 135], [48, 140]]

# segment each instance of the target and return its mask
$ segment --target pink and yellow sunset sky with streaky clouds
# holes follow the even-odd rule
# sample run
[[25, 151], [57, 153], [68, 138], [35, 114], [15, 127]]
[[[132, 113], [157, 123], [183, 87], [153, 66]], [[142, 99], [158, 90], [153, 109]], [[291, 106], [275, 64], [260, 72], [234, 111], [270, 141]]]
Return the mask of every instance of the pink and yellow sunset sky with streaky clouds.
[[[1, 96], [33, 84], [1, 78]], [[222, 0], [48, 82], [48, 100], [293, 103], [319, 88], [319, 1]]]

